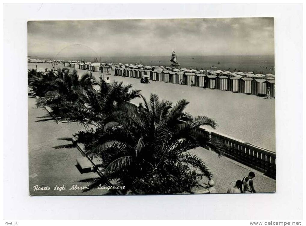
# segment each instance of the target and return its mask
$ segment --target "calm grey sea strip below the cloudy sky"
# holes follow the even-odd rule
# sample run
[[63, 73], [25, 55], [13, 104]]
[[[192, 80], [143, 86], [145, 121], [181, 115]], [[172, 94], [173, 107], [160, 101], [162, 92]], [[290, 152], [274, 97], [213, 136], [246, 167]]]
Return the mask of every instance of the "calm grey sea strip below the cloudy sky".
[[[65, 57], [65, 58], [48, 58], [48, 57], [30, 57], [38, 59], [55, 59], [55, 60], [83, 60], [93, 62], [97, 58], [100, 62], [126, 63], [135, 64], [142, 62], [150, 66], [171, 66], [170, 56], [114, 56], [114, 57]], [[222, 71], [242, 71], [261, 74], [275, 74], [274, 72], [274, 55], [214, 55], [214, 56], [179, 56], [177, 61], [178, 68], [196, 69], [196, 70], [222, 70]]]

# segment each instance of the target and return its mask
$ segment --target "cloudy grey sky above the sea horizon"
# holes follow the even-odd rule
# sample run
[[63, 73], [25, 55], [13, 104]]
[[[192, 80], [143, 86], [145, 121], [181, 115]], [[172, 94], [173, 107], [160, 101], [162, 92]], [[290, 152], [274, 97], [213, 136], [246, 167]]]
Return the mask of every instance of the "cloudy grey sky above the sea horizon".
[[274, 55], [274, 19], [28, 21], [28, 56]]

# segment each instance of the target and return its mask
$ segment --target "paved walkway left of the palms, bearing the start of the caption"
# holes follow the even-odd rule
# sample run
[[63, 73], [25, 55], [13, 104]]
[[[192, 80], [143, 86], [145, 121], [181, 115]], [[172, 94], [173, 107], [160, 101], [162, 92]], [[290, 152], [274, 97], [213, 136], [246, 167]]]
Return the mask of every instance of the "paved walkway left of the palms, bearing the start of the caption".
[[[35, 98], [28, 98], [29, 125], [29, 191], [30, 195], [100, 195], [106, 190], [93, 189], [69, 190], [74, 184], [88, 186], [80, 182], [84, 179], [96, 178], [96, 173], [81, 174], [76, 168], [76, 158], [81, 153], [73, 148], [56, 146], [71, 144], [71, 141], [58, 140], [72, 137], [72, 134], [83, 130], [77, 123], [57, 124], [44, 108], [36, 108]], [[33, 186], [50, 186], [50, 190], [34, 191]], [[54, 190], [54, 186], [66, 185], [66, 190]]]

